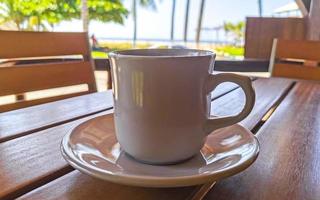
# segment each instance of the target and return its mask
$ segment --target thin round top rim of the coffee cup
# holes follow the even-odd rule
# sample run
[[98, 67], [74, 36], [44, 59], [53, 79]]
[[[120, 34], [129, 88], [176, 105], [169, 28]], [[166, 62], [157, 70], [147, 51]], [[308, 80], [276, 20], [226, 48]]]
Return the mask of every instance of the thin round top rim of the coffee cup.
[[[173, 54], [179, 51], [178, 54]], [[150, 55], [143, 55], [143, 53]], [[154, 55], [159, 53], [160, 55]], [[196, 54], [192, 54], [196, 53]], [[167, 55], [165, 55], [167, 54]], [[190, 57], [215, 57], [215, 53], [209, 50], [200, 49], [127, 49], [116, 50], [109, 53], [109, 57], [126, 57], [126, 58], [190, 58]]]

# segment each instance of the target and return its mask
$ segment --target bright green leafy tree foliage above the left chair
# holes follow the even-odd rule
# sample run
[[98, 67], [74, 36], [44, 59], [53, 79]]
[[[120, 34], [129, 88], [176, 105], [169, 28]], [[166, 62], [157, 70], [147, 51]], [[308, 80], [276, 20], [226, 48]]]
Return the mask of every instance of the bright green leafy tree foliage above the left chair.
[[[11, 21], [19, 30], [47, 30], [63, 20], [79, 19], [80, 5], [80, 0], [1, 0], [0, 24]], [[128, 15], [120, 0], [88, 0], [88, 7], [92, 20], [122, 24]]]

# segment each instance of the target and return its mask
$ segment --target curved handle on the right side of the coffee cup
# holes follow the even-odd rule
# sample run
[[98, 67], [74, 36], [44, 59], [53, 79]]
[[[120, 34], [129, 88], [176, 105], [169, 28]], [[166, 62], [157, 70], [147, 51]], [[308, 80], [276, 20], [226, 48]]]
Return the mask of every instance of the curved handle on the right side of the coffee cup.
[[219, 128], [238, 123], [249, 115], [254, 106], [255, 92], [251, 84], [251, 79], [246, 76], [240, 76], [231, 73], [220, 73], [215, 75], [210, 74], [206, 84], [206, 93], [209, 94], [223, 82], [232, 82], [239, 85], [245, 93], [246, 103], [244, 105], [244, 108], [238, 115], [215, 118], [210, 117], [209, 119], [207, 119], [205, 124], [205, 131], [207, 134], [210, 134], [211, 132]]

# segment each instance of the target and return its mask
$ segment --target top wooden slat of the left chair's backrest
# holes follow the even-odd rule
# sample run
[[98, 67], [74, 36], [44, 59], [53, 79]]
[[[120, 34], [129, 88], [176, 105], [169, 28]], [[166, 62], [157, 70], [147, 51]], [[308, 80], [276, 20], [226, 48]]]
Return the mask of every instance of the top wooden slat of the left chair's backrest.
[[0, 59], [90, 54], [84, 32], [0, 31], [0, 44]]

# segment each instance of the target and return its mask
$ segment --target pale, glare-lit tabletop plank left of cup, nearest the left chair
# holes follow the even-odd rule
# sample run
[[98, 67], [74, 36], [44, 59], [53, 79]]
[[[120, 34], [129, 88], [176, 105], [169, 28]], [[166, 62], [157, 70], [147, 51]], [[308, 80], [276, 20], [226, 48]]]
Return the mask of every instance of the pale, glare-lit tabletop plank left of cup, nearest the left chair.
[[0, 143], [112, 107], [107, 91], [0, 113]]

